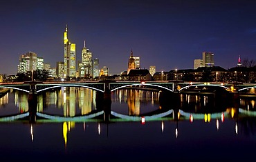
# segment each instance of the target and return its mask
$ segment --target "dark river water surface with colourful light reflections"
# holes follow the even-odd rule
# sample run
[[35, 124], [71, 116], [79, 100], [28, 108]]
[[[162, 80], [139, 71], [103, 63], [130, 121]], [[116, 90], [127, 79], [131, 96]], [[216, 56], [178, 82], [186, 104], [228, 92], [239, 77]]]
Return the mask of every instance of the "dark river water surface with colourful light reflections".
[[[111, 93], [116, 117], [104, 122], [96, 92], [61, 88], [38, 95], [35, 123], [12, 119], [28, 112], [28, 94], [12, 90], [0, 99], [0, 154], [3, 161], [241, 161], [255, 159], [255, 99], [216, 104], [211, 96], [181, 94], [174, 103], [159, 92]], [[175, 104], [177, 105], [177, 104]], [[208, 109], [211, 111], [208, 112]], [[213, 111], [212, 111], [213, 110]], [[160, 117], [161, 116], [161, 117]], [[77, 120], [75, 117], [78, 117]], [[80, 118], [79, 118], [80, 117]], [[145, 117], [145, 121], [143, 121]], [[149, 117], [149, 118], [147, 118]], [[150, 118], [152, 117], [152, 118]], [[154, 118], [156, 117], [156, 118]]]

